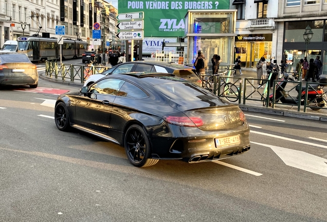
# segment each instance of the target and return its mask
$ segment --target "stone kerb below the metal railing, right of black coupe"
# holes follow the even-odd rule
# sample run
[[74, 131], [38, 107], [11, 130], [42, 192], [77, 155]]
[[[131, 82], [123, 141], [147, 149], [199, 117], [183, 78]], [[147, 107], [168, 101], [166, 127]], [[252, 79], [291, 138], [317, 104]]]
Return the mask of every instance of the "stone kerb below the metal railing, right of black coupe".
[[316, 120], [316, 121], [323, 121], [327, 122], [327, 115], [320, 115], [320, 114], [311, 114], [311, 113], [304, 113], [304, 112], [297, 112], [297, 111], [288, 111], [284, 109], [280, 110], [273, 110], [271, 108], [260, 108], [260, 107], [253, 107], [249, 105], [242, 105], [239, 104], [239, 107], [243, 111], [253, 112], [253, 113], [264, 113], [276, 116], [286, 116], [286, 117], [294, 117], [298, 119], [307, 119], [307, 120]]

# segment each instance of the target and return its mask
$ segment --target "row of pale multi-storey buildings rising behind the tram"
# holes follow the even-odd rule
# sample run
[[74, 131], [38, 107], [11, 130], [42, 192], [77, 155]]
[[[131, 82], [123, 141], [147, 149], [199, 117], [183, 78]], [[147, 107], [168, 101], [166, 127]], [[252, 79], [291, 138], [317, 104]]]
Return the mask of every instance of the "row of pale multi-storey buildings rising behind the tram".
[[65, 39], [81, 39], [92, 48], [93, 24], [99, 22], [109, 48], [106, 42], [116, 43], [117, 14], [114, 6], [101, 0], [0, 0], [0, 45], [23, 35], [57, 37], [56, 25], [63, 25]]

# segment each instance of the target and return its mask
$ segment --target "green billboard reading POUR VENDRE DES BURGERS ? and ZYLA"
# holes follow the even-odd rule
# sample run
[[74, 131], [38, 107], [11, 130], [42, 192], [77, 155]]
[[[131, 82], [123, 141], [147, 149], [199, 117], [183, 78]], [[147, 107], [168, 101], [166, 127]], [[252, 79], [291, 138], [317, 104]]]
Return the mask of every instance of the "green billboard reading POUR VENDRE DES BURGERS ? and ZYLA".
[[182, 37], [188, 10], [229, 9], [223, 1], [131, 1], [119, 0], [118, 13], [144, 12], [144, 36]]

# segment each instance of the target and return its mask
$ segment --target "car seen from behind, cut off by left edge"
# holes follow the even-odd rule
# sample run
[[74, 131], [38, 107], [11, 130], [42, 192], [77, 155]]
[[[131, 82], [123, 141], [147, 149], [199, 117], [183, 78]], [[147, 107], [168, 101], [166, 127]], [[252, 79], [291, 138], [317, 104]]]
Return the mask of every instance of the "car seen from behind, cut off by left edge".
[[21, 53], [0, 53], [0, 85], [29, 85], [38, 87], [37, 66]]

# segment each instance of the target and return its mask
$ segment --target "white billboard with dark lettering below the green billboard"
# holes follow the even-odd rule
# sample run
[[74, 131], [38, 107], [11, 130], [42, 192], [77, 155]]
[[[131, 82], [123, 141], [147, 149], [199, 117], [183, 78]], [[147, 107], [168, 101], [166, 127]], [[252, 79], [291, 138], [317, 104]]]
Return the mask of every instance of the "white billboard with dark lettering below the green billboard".
[[[144, 37], [142, 41], [142, 53], [151, 54], [157, 50], [162, 50], [163, 38], [159, 37]], [[165, 38], [165, 42], [177, 42], [176, 38]], [[165, 51], [176, 51], [176, 47], [165, 47]]]

